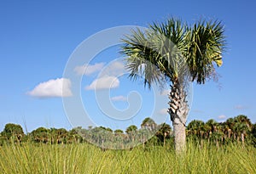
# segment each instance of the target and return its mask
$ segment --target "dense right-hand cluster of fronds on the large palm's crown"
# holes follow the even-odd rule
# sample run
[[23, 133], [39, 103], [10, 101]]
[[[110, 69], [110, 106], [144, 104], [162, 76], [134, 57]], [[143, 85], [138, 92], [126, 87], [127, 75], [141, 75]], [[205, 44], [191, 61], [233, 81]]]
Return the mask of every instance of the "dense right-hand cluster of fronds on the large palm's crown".
[[205, 20], [195, 23], [187, 35], [188, 58], [192, 81], [205, 83], [215, 72], [213, 62], [222, 65], [222, 53], [225, 46], [224, 25], [221, 22]]

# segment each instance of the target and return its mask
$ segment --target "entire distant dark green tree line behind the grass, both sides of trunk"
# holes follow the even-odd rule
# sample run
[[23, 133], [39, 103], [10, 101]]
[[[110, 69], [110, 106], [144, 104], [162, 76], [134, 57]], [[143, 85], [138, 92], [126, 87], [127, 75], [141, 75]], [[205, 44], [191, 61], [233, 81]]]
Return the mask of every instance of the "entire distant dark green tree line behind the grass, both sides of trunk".
[[[212, 143], [222, 146], [229, 143], [251, 143], [256, 147], [256, 124], [246, 115], [238, 115], [224, 122], [214, 120], [191, 121], [186, 127], [188, 139], [194, 140], [199, 145]], [[64, 128], [38, 127], [29, 133], [24, 133], [20, 125], [6, 124], [0, 134], [0, 145], [26, 142], [67, 144], [67, 143], [93, 143], [102, 149], [131, 149], [139, 144], [145, 145], [173, 145], [172, 127], [166, 123], [157, 125], [151, 118], [143, 120], [141, 127], [128, 126], [125, 130], [112, 130], [108, 127], [82, 126], [70, 131]]]

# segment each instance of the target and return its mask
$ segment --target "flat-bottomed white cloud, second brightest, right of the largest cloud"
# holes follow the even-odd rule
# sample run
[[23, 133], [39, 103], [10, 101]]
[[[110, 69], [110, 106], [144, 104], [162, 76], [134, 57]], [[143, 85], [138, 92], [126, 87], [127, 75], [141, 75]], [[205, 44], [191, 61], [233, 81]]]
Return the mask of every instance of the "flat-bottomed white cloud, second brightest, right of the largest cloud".
[[102, 76], [94, 81], [92, 83], [85, 87], [86, 90], [94, 90], [94, 89], [110, 89], [119, 87], [119, 79], [115, 76]]

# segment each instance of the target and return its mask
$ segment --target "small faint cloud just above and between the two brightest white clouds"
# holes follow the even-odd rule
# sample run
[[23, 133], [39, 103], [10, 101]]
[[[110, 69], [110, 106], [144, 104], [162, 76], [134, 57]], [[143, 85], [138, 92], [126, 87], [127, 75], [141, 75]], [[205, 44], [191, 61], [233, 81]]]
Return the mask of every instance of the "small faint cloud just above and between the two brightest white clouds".
[[102, 70], [103, 66], [105, 63], [96, 63], [95, 65], [81, 65], [81, 66], [76, 66], [74, 71], [78, 75], [85, 75], [85, 76], [90, 76], [91, 74]]

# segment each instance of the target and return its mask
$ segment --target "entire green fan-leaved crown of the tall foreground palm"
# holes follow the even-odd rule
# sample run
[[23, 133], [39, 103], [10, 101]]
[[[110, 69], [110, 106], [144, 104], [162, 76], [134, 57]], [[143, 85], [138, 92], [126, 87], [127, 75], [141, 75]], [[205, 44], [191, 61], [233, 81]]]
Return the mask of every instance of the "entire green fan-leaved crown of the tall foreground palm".
[[172, 18], [149, 25], [148, 30], [131, 32], [123, 39], [126, 67], [132, 79], [143, 76], [148, 87], [152, 82], [161, 84], [163, 76], [172, 82], [183, 77], [183, 66], [178, 65], [183, 62], [189, 68], [190, 80], [200, 84], [215, 76], [213, 62], [222, 65], [225, 40], [221, 22], [199, 21], [188, 26]]

